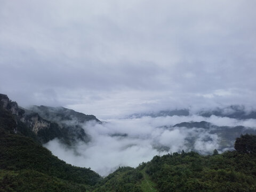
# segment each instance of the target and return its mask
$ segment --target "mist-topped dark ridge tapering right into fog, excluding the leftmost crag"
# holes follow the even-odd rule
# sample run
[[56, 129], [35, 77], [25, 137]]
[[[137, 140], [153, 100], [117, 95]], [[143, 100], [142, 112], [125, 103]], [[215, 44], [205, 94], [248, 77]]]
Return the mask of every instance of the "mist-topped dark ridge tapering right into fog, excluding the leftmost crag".
[[25, 119], [43, 143], [58, 138], [67, 145], [90, 141], [90, 136], [85, 133], [82, 124], [88, 121], [100, 123], [93, 115], [85, 115], [64, 107], [46, 106], [30, 107], [26, 110]]

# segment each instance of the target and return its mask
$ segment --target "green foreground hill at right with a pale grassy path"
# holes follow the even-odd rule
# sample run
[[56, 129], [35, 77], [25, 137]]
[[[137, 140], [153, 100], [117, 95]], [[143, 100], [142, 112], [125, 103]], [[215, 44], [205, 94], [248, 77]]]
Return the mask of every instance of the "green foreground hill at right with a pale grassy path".
[[155, 156], [136, 169], [121, 167], [94, 191], [255, 191], [256, 155], [227, 151], [201, 156], [195, 152]]

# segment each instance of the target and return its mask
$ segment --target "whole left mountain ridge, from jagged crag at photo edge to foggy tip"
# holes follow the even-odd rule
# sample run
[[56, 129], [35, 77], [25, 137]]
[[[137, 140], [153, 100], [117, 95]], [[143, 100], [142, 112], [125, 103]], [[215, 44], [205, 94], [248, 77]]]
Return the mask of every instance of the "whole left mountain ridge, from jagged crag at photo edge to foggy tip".
[[78, 141], [89, 142], [90, 135], [85, 133], [82, 123], [100, 123], [93, 115], [85, 115], [63, 107], [33, 106], [24, 109], [4, 94], [0, 94], [0, 102], [0, 106], [15, 117], [17, 126], [13, 131], [34, 138], [40, 143], [46, 143], [54, 138], [69, 146]]

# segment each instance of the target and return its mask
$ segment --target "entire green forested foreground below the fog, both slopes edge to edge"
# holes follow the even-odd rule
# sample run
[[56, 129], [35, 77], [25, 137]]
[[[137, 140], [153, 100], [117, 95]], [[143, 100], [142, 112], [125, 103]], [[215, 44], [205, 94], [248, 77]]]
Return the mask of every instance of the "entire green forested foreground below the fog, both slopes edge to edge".
[[256, 191], [255, 135], [237, 138], [234, 151], [155, 156], [102, 178], [61, 161], [28, 133], [25, 124], [0, 107], [0, 191]]

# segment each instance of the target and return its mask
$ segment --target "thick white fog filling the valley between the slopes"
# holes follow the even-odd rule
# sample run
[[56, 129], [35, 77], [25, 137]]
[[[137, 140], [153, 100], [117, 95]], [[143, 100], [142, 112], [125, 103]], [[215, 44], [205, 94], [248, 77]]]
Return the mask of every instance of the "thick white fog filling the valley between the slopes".
[[[54, 139], [44, 146], [65, 162], [92, 170], [106, 176], [118, 166], [136, 167], [150, 161], [155, 155], [194, 150], [200, 154], [212, 154], [220, 149], [221, 138], [210, 130], [173, 126], [181, 122], [207, 121], [219, 126], [251, 126], [256, 129], [256, 119], [237, 120], [228, 117], [166, 116], [129, 119], [107, 119], [102, 124], [88, 122], [84, 130], [91, 135], [89, 143], [79, 142], [75, 146], [62, 145]], [[193, 144], [189, 140], [193, 140]], [[232, 141], [234, 142], [234, 141]], [[232, 143], [233, 145], [234, 143]]]

